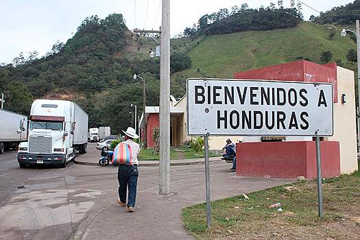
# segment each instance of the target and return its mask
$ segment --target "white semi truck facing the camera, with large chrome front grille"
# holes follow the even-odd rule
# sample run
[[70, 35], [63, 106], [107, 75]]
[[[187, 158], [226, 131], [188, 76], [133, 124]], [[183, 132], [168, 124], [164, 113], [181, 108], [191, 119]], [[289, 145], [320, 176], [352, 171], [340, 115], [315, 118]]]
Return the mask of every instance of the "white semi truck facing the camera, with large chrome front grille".
[[37, 99], [30, 110], [27, 139], [19, 145], [20, 167], [66, 167], [77, 151], [86, 153], [88, 115], [72, 101]]

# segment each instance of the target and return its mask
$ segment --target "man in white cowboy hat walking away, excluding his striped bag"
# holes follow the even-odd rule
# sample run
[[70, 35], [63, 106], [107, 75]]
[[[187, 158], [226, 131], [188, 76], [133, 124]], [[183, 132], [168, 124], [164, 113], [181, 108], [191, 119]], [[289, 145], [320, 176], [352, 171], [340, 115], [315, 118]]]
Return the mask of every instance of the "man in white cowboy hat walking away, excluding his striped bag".
[[131, 148], [131, 161], [130, 165], [121, 164], [117, 172], [117, 179], [119, 180], [119, 198], [117, 203], [120, 206], [126, 206], [126, 193], [128, 189], [128, 211], [134, 212], [135, 200], [136, 200], [136, 187], [139, 177], [139, 160], [138, 155], [140, 153], [140, 146], [132, 139], [139, 139], [134, 128], [129, 127], [126, 131], [122, 130], [125, 134], [125, 142]]

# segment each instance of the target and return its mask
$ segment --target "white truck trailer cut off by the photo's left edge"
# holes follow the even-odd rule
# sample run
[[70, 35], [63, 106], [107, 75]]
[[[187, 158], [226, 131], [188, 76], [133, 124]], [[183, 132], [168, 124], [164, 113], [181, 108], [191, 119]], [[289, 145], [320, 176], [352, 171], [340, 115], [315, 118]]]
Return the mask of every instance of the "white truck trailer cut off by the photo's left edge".
[[[22, 131], [19, 132], [19, 129]], [[27, 141], [26, 130], [25, 115], [0, 109], [0, 154], [8, 149], [17, 149], [22, 141]]]

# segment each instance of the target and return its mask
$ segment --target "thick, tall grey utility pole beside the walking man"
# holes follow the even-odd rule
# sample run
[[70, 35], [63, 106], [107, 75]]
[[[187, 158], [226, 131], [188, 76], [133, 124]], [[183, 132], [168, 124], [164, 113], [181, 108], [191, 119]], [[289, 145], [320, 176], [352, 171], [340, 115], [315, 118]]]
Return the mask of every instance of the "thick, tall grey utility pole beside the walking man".
[[162, 0], [159, 194], [170, 193], [170, 0]]

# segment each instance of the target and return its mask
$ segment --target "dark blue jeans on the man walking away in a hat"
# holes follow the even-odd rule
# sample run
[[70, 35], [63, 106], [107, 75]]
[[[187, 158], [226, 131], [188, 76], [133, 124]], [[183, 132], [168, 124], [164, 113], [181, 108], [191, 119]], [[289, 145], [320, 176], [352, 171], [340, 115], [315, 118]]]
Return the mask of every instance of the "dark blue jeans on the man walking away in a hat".
[[128, 206], [135, 206], [138, 177], [139, 170], [137, 165], [119, 165], [119, 170], [117, 171], [117, 179], [119, 180], [119, 197], [121, 202], [126, 203], [126, 192], [128, 190]]

